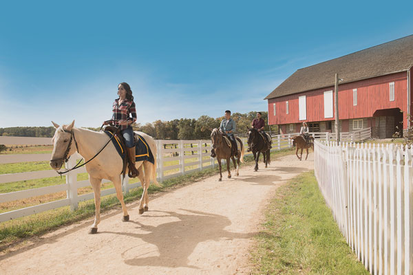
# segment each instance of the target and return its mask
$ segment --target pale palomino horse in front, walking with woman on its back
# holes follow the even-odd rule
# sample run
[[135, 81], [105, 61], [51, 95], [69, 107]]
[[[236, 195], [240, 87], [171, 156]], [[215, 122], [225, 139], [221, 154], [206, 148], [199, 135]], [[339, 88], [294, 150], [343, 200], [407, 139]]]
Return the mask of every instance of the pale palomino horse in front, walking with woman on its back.
[[[50, 166], [54, 170], [59, 170], [65, 160], [67, 160], [76, 151], [85, 159], [92, 159], [105, 144], [109, 141], [109, 137], [103, 131], [95, 132], [88, 129], [74, 127], [74, 120], [70, 125], [59, 126], [52, 122], [56, 131], [54, 132], [53, 152]], [[152, 137], [145, 133], [138, 132], [139, 135], [147, 140], [149, 147], [155, 157], [155, 164], [151, 162], [136, 162], [136, 168], [139, 170], [139, 179], [142, 184], [143, 192], [139, 204], [139, 214], [148, 210], [148, 194], [149, 182], [152, 179], [153, 183], [158, 185], [156, 181], [156, 143]], [[89, 173], [89, 181], [92, 184], [94, 192], [94, 202], [96, 207], [95, 219], [90, 228], [90, 233], [98, 232], [98, 223], [100, 222], [100, 183], [102, 179], [109, 179], [114, 183], [116, 196], [118, 197], [123, 210], [123, 221], [129, 221], [129, 214], [123, 201], [123, 193], [121, 186], [120, 174], [122, 173], [123, 162], [122, 158], [116, 151], [112, 142], [109, 142], [105, 149], [101, 151], [91, 162], [86, 165], [87, 173]], [[143, 169], [145, 169], [145, 174]]]

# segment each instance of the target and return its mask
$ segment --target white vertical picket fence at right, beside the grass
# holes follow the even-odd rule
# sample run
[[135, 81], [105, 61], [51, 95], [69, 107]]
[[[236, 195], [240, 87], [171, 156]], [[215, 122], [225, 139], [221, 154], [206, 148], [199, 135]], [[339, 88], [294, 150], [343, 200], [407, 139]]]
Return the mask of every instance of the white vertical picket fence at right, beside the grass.
[[413, 274], [413, 148], [315, 142], [319, 188], [371, 274]]

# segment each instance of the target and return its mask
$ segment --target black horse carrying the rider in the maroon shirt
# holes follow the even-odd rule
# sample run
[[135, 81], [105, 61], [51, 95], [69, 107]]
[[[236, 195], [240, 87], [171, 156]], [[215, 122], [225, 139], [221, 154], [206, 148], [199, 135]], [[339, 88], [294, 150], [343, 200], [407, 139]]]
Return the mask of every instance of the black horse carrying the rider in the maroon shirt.
[[258, 132], [254, 128], [248, 129], [247, 137], [248, 151], [253, 151], [255, 159], [254, 171], [257, 172], [258, 170], [258, 159], [260, 159], [260, 153], [262, 153], [262, 155], [264, 156], [264, 164], [265, 168], [267, 168], [268, 164], [271, 163], [270, 145], [272, 143], [272, 140], [270, 140], [271, 143], [268, 144], [268, 142], [265, 142], [264, 137], [260, 134], [260, 132]]

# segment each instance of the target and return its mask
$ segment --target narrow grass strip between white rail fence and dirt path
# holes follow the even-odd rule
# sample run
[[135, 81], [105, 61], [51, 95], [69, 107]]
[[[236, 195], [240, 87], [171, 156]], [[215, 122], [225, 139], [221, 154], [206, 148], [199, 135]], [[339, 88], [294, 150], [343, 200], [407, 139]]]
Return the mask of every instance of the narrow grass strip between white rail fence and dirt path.
[[[271, 153], [271, 159], [277, 159], [278, 157], [290, 155], [291, 153], [293, 153], [293, 150], [276, 151]], [[245, 156], [244, 159], [246, 164], [252, 164], [253, 162], [252, 155]], [[188, 175], [174, 177], [173, 179], [162, 181], [162, 187], [157, 187], [152, 184], [148, 192], [149, 194], [153, 192], [166, 192], [171, 186], [183, 186], [193, 181], [203, 179], [204, 177], [215, 175], [216, 173], [218, 173], [218, 166], [196, 171]], [[141, 196], [142, 188], [133, 188], [125, 195], [125, 202], [136, 201], [140, 199]], [[101, 212], [105, 212], [119, 206], [120, 203], [116, 195], [107, 195], [102, 198], [100, 209]], [[73, 212], [67, 206], [0, 223], [0, 251], [7, 251], [11, 246], [24, 241], [30, 236], [39, 236], [59, 226], [81, 221], [87, 217], [93, 217], [94, 209], [94, 201], [89, 200], [79, 203], [78, 210]]]

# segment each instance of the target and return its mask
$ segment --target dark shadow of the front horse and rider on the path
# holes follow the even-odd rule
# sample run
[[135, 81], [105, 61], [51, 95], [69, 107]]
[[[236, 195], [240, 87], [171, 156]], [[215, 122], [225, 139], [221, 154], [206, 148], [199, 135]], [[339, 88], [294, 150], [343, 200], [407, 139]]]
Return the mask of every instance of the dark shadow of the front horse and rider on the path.
[[[182, 209], [184, 210], [184, 209]], [[178, 221], [162, 223], [160, 225], [144, 225], [139, 221], [129, 221], [138, 225], [145, 233], [126, 233], [102, 231], [100, 234], [119, 234], [140, 239], [140, 243], [122, 253], [127, 265], [162, 266], [162, 267], [189, 267], [200, 269], [189, 265], [189, 256], [195, 250], [198, 243], [205, 241], [220, 241], [221, 239], [250, 239], [253, 233], [234, 233], [224, 230], [231, 225], [231, 221], [222, 215], [211, 214], [194, 210], [184, 210], [190, 214], [162, 211], [164, 216], [145, 216], [149, 218], [175, 217]], [[149, 251], [142, 251], [142, 245], [152, 245]], [[157, 254], [157, 256], [153, 256]]]

